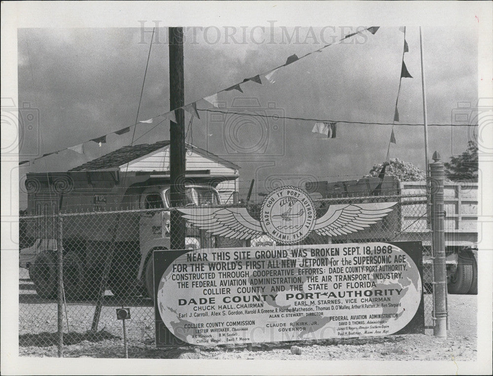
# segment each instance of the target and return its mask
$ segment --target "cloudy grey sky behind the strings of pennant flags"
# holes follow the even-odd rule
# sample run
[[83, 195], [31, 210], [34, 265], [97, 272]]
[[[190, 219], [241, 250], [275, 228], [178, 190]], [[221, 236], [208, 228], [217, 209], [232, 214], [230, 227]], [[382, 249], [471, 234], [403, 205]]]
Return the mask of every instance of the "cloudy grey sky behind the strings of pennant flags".
[[[39, 111], [39, 129], [21, 138], [20, 160], [73, 146], [169, 110], [167, 29], [158, 28], [151, 47], [139, 114], [152, 21], [143, 28], [23, 28], [18, 30], [19, 105]], [[158, 25], [160, 26], [160, 25]], [[278, 23], [261, 27], [209, 26], [185, 29], [185, 103], [197, 101], [302, 56], [362, 26], [298, 28]], [[424, 70], [429, 124], [450, 124], [458, 105], [478, 100], [478, 31], [470, 22], [444, 29], [424, 27]], [[359, 27], [359, 29], [357, 29]], [[404, 34], [398, 27], [365, 32], [282, 68], [269, 83], [247, 82], [244, 93], [220, 93], [226, 110], [254, 103], [259, 113], [288, 117], [391, 123], [399, 86]], [[401, 123], [423, 123], [420, 35], [407, 27], [404, 61], [414, 78], [403, 78], [399, 95]], [[213, 108], [197, 103], [199, 108]], [[251, 111], [251, 110], [250, 110]], [[463, 112], [463, 110], [462, 110]], [[466, 111], [467, 112], [467, 111]], [[278, 181], [356, 179], [386, 158], [390, 125], [339, 123], [336, 139], [311, 132], [313, 121], [229, 116], [200, 112], [188, 141], [242, 167], [240, 194], [249, 181], [257, 191]], [[186, 125], [189, 117], [187, 115]], [[169, 139], [169, 123], [140, 124], [134, 144]], [[263, 130], [263, 134], [260, 131]], [[444, 160], [465, 150], [472, 129], [429, 127], [429, 152]], [[236, 138], [235, 138], [236, 137]], [[423, 127], [395, 126], [397, 144], [390, 158], [424, 170]], [[132, 142], [132, 132], [110, 135], [99, 147], [85, 143], [85, 154], [66, 150], [20, 169], [66, 171]], [[235, 146], [236, 150], [235, 150]], [[245, 152], [238, 153], [243, 148]], [[276, 183], [274, 183], [276, 181]], [[21, 197], [22, 200], [22, 197]], [[21, 204], [22, 206], [22, 204]]]

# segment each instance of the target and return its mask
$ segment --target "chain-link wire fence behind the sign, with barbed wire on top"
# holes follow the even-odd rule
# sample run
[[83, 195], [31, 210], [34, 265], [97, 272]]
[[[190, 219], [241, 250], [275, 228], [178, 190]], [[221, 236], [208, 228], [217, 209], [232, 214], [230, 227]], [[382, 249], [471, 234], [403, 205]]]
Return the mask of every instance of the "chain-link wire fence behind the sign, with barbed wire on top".
[[[64, 343], [107, 342], [122, 346], [122, 321], [116, 308], [130, 308], [126, 339], [139, 357], [154, 344], [152, 251], [173, 249], [174, 209], [152, 205], [144, 209], [73, 211], [26, 215], [20, 218], [19, 342], [23, 347], [55, 346], [57, 302], [61, 303]], [[391, 212], [370, 227], [339, 236], [312, 232], [301, 244], [369, 241], [423, 242], [425, 324], [433, 324], [431, 232], [427, 198], [423, 194], [315, 198], [317, 217], [330, 205], [396, 202]], [[202, 205], [201, 208], [217, 207]], [[238, 205], [236, 205], [238, 206]], [[187, 206], [189, 207], [189, 206]], [[225, 207], [223, 205], [223, 207]], [[229, 206], [231, 207], [231, 205]], [[248, 202], [247, 211], [259, 220], [261, 202]], [[74, 208], [72, 208], [74, 209]], [[86, 209], [86, 208], [85, 208]], [[237, 240], [211, 236], [184, 224], [185, 248], [281, 245], [267, 234]], [[63, 256], [62, 296], [59, 295], [57, 257]], [[105, 343], [106, 343], [105, 342]], [[112, 356], [108, 352], [108, 357]], [[69, 354], [65, 354], [70, 356]], [[113, 354], [114, 356], [114, 354]]]

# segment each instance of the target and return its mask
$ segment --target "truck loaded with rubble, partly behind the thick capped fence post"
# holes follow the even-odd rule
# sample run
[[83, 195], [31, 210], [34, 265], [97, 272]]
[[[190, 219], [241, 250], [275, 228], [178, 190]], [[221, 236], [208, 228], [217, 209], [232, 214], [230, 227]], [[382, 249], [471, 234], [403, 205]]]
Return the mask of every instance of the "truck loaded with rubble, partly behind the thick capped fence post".
[[[377, 224], [332, 242], [344, 241], [409, 241], [423, 243], [423, 279], [426, 289], [433, 281], [431, 227], [425, 181], [400, 182], [385, 176], [345, 181], [306, 183], [314, 198], [344, 199], [354, 203], [368, 200], [386, 201], [398, 198], [398, 205]], [[321, 202], [328, 202], [321, 200]], [[349, 202], [349, 201], [348, 201]], [[320, 209], [318, 209], [320, 210]], [[477, 294], [478, 291], [478, 183], [444, 183], [445, 252], [448, 292]], [[378, 238], [377, 238], [378, 234]]]

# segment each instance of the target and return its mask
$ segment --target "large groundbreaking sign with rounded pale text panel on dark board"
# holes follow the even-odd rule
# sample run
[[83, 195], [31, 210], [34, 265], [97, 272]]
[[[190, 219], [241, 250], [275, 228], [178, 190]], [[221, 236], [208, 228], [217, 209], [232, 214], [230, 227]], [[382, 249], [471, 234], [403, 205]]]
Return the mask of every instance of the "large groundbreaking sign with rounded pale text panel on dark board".
[[423, 333], [419, 242], [155, 251], [158, 346]]

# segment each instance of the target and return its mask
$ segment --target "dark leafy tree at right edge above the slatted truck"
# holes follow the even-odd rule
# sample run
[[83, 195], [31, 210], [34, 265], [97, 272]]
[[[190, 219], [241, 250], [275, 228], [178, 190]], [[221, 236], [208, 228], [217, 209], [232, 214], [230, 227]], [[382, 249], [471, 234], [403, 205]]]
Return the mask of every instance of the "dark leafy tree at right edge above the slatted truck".
[[457, 157], [450, 157], [445, 164], [445, 173], [452, 181], [478, 181], [478, 144], [474, 141], [467, 143], [467, 149]]

